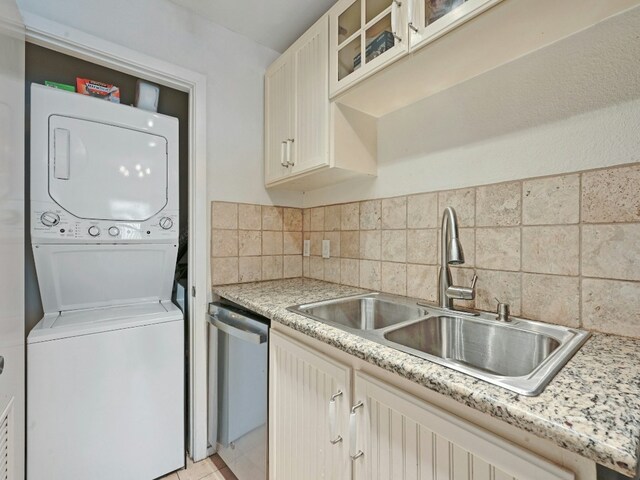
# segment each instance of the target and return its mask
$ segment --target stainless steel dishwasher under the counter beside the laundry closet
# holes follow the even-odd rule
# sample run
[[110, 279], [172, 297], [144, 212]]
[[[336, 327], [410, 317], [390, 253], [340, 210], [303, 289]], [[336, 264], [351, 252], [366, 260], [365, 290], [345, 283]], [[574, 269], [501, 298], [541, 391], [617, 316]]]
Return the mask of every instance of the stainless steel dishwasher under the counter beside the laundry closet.
[[209, 341], [217, 338], [217, 352], [209, 348], [217, 358], [209, 443], [239, 480], [266, 480], [269, 319], [222, 299], [209, 304], [209, 324], [216, 329]]

